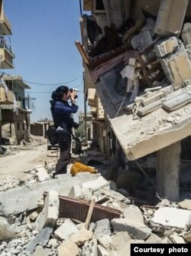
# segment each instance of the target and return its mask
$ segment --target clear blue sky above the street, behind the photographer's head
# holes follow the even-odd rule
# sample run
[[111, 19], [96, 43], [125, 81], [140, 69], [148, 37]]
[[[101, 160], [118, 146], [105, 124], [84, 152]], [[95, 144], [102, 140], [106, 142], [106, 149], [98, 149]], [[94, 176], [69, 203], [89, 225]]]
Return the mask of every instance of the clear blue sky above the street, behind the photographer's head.
[[[79, 110], [83, 110], [83, 62], [74, 41], [81, 41], [78, 0], [4, 0], [5, 14], [11, 22], [11, 45], [15, 68], [5, 70], [27, 83], [35, 97], [31, 121], [51, 118], [50, 96], [58, 86], [78, 87]], [[8, 40], [8, 37], [6, 37]], [[76, 119], [76, 117], [75, 117]]]

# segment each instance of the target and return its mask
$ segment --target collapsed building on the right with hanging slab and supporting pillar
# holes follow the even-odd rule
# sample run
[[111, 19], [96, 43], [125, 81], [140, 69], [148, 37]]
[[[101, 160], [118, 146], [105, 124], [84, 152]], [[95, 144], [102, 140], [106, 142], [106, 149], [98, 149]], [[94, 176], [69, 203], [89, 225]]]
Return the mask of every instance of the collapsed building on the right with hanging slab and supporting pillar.
[[191, 134], [190, 11], [189, 0], [84, 0], [76, 41], [100, 149], [112, 139], [128, 162], [154, 153], [157, 192], [175, 201]]

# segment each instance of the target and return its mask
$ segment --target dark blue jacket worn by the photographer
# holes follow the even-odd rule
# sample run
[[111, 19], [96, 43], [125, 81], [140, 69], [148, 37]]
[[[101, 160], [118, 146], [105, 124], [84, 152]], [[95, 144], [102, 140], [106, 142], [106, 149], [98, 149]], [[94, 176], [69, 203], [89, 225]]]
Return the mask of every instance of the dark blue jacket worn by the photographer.
[[78, 106], [75, 103], [70, 104], [67, 101], [60, 100], [50, 100], [51, 103], [51, 112], [53, 116], [53, 123], [55, 128], [58, 126], [63, 129], [68, 130], [70, 133], [73, 128], [73, 117], [72, 114], [76, 113], [78, 110]]

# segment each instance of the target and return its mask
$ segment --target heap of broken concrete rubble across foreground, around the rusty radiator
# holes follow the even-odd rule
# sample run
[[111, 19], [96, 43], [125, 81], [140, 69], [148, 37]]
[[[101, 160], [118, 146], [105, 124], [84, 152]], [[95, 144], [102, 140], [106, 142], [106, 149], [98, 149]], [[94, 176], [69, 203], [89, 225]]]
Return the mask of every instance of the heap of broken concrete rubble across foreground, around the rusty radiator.
[[[46, 169], [46, 166], [44, 167]], [[40, 168], [37, 167], [37, 169]], [[11, 256], [123, 255], [130, 251], [132, 243], [188, 243], [191, 241], [190, 200], [176, 203], [163, 199], [155, 207], [139, 208], [128, 198], [128, 195], [126, 197], [116, 191], [118, 189], [115, 182], [108, 182], [100, 174], [78, 173], [72, 177], [68, 173], [59, 176], [58, 179], [51, 179], [50, 170], [47, 172], [50, 179], [32, 184], [26, 183], [30, 187], [26, 195], [28, 199], [35, 197], [35, 205], [25, 208], [25, 212], [24, 208], [18, 213], [12, 210], [12, 214], [11, 209], [9, 210], [7, 219], [11, 223], [11, 228], [20, 228], [20, 230], [10, 238], [2, 238], [1, 255], [10, 253]], [[35, 172], [33, 175], [35, 176]], [[87, 229], [84, 228], [84, 223], [77, 219], [60, 218], [58, 195], [61, 195], [63, 189], [55, 185], [57, 182], [61, 182], [61, 186], [65, 185], [65, 193], [63, 193], [65, 196], [73, 195], [73, 199], [89, 202], [94, 196], [99, 204], [118, 209], [121, 212], [120, 218], [103, 218], [97, 222], [90, 222]], [[75, 185], [75, 182], [79, 184]], [[50, 184], [52, 190], [47, 189], [50, 188]], [[40, 207], [37, 207], [37, 194], [30, 195], [34, 185], [37, 185], [35, 191], [42, 188], [38, 195], [42, 196], [44, 191], [48, 192]], [[2, 193], [12, 190], [11, 193], [15, 194], [17, 189], [24, 189], [24, 187], [27, 188], [21, 185], [15, 189], [5, 189]], [[3, 207], [6, 207], [4, 203], [1, 208], [5, 215]], [[1, 231], [0, 219], [0, 234]]]

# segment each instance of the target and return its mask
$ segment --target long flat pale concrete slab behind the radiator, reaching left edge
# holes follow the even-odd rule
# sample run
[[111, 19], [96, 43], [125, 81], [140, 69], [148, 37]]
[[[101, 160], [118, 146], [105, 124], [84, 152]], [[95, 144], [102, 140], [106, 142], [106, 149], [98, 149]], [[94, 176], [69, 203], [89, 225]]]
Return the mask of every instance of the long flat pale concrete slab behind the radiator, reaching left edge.
[[[44, 192], [57, 190], [60, 195], [67, 196], [73, 185], [82, 184], [89, 180], [97, 179], [99, 176], [86, 176], [79, 179], [78, 176], [71, 177], [60, 175], [59, 179], [50, 179], [44, 182], [21, 185], [14, 189], [0, 192], [0, 215], [15, 215], [27, 210], [37, 208], [37, 200]], [[23, 196], [26, 195], [26, 196]]]

